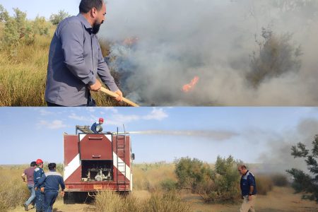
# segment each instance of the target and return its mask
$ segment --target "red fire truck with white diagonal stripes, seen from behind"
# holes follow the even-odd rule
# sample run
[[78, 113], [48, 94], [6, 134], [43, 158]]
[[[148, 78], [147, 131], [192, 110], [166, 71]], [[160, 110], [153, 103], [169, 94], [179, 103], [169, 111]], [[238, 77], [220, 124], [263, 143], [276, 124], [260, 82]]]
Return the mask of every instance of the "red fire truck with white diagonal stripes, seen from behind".
[[93, 134], [89, 126], [76, 126], [75, 135], [64, 134], [64, 203], [102, 190], [131, 192], [133, 160], [126, 132]]

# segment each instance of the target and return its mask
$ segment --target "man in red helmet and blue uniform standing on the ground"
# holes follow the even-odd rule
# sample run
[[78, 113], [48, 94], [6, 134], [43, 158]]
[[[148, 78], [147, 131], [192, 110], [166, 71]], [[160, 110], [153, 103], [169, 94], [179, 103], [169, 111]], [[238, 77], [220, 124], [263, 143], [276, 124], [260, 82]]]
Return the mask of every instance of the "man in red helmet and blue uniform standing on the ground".
[[36, 161], [37, 167], [34, 170], [34, 189], [35, 189], [35, 206], [37, 209], [37, 212], [43, 211], [43, 201], [44, 201], [44, 193], [41, 191], [42, 187], [39, 184], [40, 179], [44, 177], [45, 172], [42, 170], [43, 167], [43, 161], [41, 159], [37, 159]]

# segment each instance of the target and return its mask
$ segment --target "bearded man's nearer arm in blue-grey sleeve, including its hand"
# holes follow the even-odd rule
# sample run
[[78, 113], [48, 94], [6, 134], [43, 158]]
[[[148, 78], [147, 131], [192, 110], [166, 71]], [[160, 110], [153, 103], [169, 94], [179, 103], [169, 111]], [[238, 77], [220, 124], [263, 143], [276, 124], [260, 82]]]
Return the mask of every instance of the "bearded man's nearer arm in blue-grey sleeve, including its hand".
[[76, 78], [88, 86], [96, 83], [93, 70], [90, 70], [85, 63], [83, 54], [83, 28], [81, 23], [68, 22], [61, 27], [61, 48], [64, 52], [64, 63]]

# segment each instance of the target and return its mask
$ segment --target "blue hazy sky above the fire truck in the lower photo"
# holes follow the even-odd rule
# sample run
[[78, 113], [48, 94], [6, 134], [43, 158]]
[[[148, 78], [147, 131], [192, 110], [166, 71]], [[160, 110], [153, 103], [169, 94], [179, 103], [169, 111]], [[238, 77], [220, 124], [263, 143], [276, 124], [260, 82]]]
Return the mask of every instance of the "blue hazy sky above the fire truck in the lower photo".
[[[0, 164], [62, 163], [63, 134], [103, 117], [104, 131], [131, 132], [135, 163], [232, 155], [245, 163], [303, 165], [290, 156], [318, 133], [316, 107], [1, 107]], [[139, 131], [139, 134], [136, 132]], [[310, 146], [308, 146], [310, 147]], [[295, 163], [294, 163], [295, 162]]]

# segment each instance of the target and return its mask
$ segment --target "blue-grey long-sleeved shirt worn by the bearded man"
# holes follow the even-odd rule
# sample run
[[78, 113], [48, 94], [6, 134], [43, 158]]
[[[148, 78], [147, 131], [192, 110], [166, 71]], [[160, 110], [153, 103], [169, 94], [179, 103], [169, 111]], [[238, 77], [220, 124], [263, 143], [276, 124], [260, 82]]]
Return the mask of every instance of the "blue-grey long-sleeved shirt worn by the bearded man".
[[49, 47], [45, 100], [57, 105], [86, 105], [88, 85], [96, 76], [110, 90], [118, 90], [102, 57], [98, 37], [79, 13], [59, 23]]

